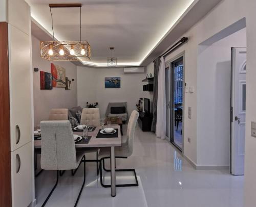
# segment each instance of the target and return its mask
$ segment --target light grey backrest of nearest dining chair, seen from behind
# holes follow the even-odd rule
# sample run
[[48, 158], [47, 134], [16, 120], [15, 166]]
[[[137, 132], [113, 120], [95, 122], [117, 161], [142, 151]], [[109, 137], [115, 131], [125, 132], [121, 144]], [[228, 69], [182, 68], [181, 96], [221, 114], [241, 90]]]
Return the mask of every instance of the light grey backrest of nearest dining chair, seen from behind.
[[41, 168], [76, 168], [76, 149], [69, 121], [41, 121]]

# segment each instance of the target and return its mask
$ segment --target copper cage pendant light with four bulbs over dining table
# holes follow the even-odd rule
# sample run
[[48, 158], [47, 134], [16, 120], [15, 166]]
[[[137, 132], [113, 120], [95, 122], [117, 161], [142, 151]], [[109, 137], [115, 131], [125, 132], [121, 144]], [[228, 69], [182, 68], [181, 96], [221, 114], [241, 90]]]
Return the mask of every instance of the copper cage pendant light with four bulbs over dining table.
[[[81, 40], [81, 4], [49, 4], [52, 22], [53, 41], [40, 41], [41, 58], [49, 61], [88, 61], [91, 60], [91, 46], [86, 40]], [[55, 40], [53, 31], [52, 8], [79, 8], [80, 40]]]

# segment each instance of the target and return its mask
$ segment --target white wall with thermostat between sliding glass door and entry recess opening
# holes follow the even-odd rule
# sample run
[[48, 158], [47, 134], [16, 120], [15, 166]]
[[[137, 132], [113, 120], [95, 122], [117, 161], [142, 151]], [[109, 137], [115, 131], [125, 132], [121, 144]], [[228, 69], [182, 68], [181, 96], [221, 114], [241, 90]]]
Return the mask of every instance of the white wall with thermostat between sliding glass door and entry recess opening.
[[[249, 0], [251, 1], [251, 0]], [[228, 12], [227, 12], [228, 11]], [[171, 60], [177, 55], [185, 52], [185, 82], [188, 87], [195, 88], [194, 93], [185, 93], [184, 102], [184, 155], [197, 165], [197, 131], [201, 125], [198, 122], [198, 100], [197, 100], [197, 56], [198, 45], [227, 28], [232, 23], [246, 16], [244, 1], [224, 0], [208, 13], [193, 28], [182, 35], [188, 37], [188, 42], [176, 49], [172, 54], [165, 58], [165, 61]], [[179, 38], [180, 39], [180, 38]], [[169, 45], [166, 45], [166, 48]], [[208, 77], [209, 79], [211, 77]], [[188, 119], [188, 107], [192, 109], [192, 118]], [[207, 106], [204, 106], [207, 107]], [[189, 143], [187, 138], [191, 139]], [[200, 146], [201, 147], [201, 146]], [[209, 164], [210, 165], [210, 164]]]

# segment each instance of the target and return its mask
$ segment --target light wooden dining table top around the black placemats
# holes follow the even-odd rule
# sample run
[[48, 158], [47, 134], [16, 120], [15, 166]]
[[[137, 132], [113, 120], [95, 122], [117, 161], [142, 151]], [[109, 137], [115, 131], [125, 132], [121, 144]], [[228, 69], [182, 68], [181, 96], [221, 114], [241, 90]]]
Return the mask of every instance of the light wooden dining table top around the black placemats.
[[[113, 128], [118, 128], [118, 137], [116, 138], [97, 138], [96, 136], [101, 129], [101, 126], [97, 126], [93, 132], [89, 132], [89, 136], [92, 136], [88, 144], [75, 144], [76, 148], [88, 148], [88, 147], [120, 147], [121, 146], [121, 132], [119, 125], [111, 125]], [[74, 135], [82, 135], [82, 132], [73, 132]], [[41, 140], [34, 141], [35, 148], [41, 148]]]

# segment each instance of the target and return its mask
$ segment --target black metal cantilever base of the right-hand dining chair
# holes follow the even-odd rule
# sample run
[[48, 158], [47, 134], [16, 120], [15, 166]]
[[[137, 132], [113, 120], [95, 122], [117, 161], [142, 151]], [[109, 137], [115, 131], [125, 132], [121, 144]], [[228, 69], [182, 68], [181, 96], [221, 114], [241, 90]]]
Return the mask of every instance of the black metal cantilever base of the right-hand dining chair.
[[[99, 163], [99, 171], [100, 171], [100, 185], [104, 188], [110, 188], [111, 185], [104, 185], [103, 184], [103, 178], [102, 178], [102, 167], [103, 169], [106, 171], [106, 172], [109, 172], [110, 170], [109, 169], [105, 169], [105, 163], [104, 163], [104, 160], [105, 159], [109, 159], [110, 157], [105, 157], [105, 158], [101, 158], [100, 159], [100, 163]], [[126, 159], [126, 157], [115, 157], [115, 158], [121, 158], [121, 159]], [[102, 166], [103, 165], [103, 166]], [[116, 185], [116, 187], [132, 187], [132, 186], [139, 186], [139, 183], [138, 183], [138, 179], [137, 179], [137, 175], [136, 175], [136, 171], [135, 169], [116, 169], [115, 170], [116, 172], [126, 172], [126, 171], [131, 171], [134, 173], [134, 177], [135, 177], [135, 180], [136, 180], [136, 183], [135, 184], [121, 184], [121, 185]]]

